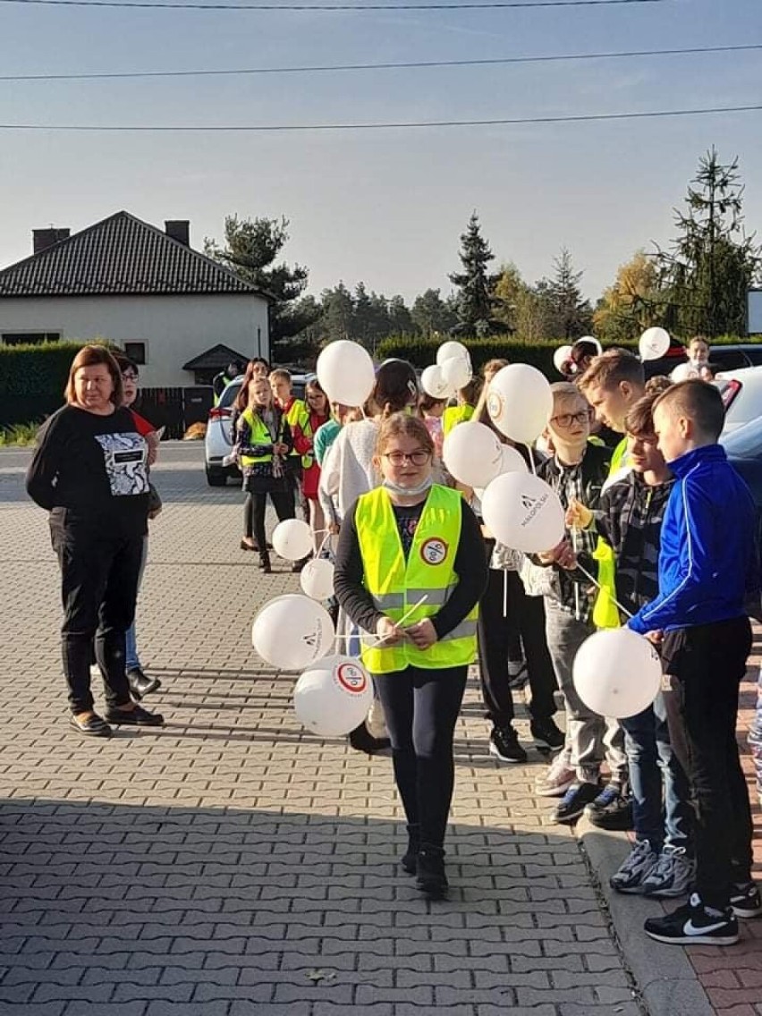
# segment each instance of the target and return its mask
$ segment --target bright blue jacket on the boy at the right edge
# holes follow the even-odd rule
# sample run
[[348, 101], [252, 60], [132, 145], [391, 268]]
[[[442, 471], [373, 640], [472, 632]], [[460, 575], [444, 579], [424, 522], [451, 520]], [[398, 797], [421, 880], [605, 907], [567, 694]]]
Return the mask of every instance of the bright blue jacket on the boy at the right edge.
[[724, 448], [695, 448], [670, 468], [658, 595], [628, 622], [641, 634], [745, 617], [746, 597], [759, 587], [756, 509]]

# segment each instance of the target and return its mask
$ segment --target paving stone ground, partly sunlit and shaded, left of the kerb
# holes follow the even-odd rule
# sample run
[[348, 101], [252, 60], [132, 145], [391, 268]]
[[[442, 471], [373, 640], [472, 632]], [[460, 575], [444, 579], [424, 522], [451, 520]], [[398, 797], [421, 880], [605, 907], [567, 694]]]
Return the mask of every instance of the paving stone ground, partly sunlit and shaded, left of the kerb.
[[[498, 766], [469, 683], [448, 902], [400, 873], [388, 758], [295, 720], [257, 659], [257, 608], [297, 587], [238, 549], [241, 493], [163, 446], [138, 611], [162, 731], [66, 723], [59, 593], [28, 453], [0, 453], [0, 1013], [14, 1016], [637, 1016], [645, 1006], [573, 833]], [[522, 739], [527, 722], [520, 718]], [[635, 989], [635, 990], [634, 990]]]

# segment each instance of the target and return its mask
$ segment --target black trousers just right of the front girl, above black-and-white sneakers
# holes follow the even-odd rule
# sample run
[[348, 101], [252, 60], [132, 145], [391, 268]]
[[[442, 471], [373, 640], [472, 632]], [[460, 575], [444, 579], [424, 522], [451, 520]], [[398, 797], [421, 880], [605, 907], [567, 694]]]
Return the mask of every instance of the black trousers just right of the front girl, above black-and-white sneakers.
[[[508, 583], [507, 617], [503, 613], [505, 582]], [[556, 712], [557, 682], [548, 651], [543, 597], [527, 596], [517, 572], [491, 568], [479, 607], [479, 669], [487, 718], [498, 727], [508, 726], [514, 716], [508, 660], [515, 629], [524, 646], [531, 688], [529, 714], [532, 719], [550, 719]]]

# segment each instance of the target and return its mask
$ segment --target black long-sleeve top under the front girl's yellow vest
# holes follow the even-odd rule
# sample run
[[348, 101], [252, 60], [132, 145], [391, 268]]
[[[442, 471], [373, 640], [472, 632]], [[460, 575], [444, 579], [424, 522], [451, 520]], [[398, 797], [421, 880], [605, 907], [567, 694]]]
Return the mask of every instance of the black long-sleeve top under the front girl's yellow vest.
[[[405, 560], [425, 503], [422, 501], [421, 504], [409, 507], [392, 505]], [[384, 615], [376, 608], [371, 594], [363, 584], [364, 568], [355, 521], [356, 509], [357, 501], [341, 522], [333, 587], [339, 604], [355, 624], [364, 631], [374, 633], [376, 625]], [[462, 512], [460, 539], [453, 565], [458, 583], [442, 610], [431, 618], [437, 638], [443, 638], [456, 628], [473, 605], [482, 598], [487, 588], [487, 560], [477, 517], [462, 499], [460, 510]]]

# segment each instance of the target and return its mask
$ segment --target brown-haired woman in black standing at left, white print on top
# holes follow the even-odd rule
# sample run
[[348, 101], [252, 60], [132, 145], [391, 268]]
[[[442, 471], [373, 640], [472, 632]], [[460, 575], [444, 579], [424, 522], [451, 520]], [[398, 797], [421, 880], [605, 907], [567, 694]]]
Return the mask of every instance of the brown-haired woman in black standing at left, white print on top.
[[[71, 723], [80, 734], [108, 738], [110, 723], [164, 723], [132, 701], [125, 674], [125, 633], [135, 615], [147, 532], [148, 447], [122, 405], [122, 374], [105, 346], [77, 353], [65, 397], [66, 405], [40, 430], [26, 492], [50, 512], [61, 568]], [[90, 691], [93, 639], [106, 719], [93, 710]]]

